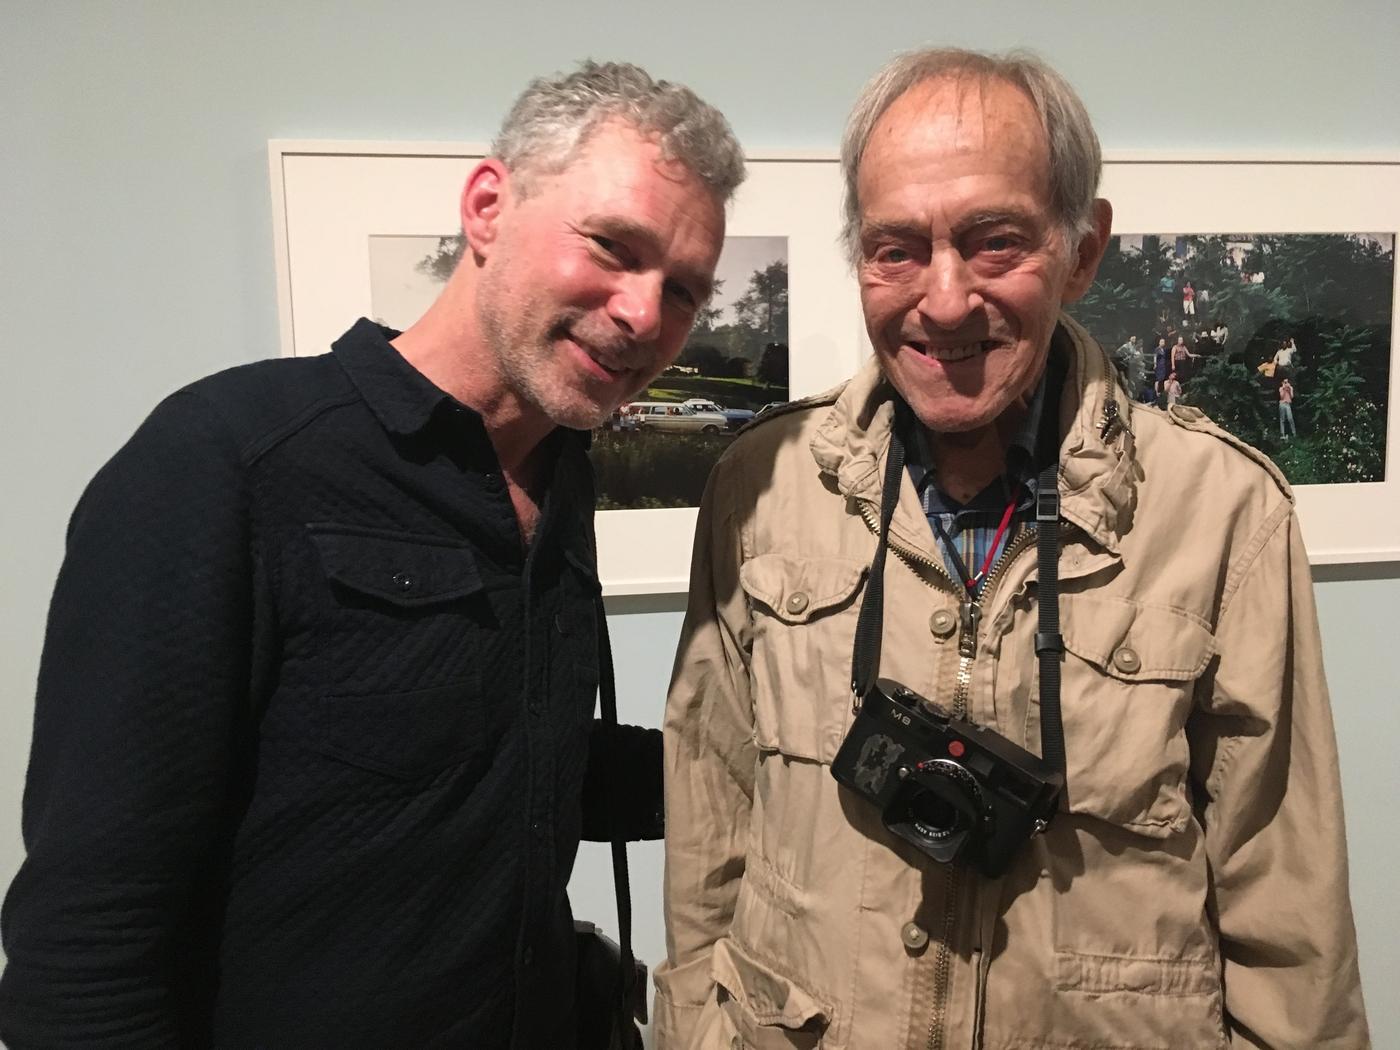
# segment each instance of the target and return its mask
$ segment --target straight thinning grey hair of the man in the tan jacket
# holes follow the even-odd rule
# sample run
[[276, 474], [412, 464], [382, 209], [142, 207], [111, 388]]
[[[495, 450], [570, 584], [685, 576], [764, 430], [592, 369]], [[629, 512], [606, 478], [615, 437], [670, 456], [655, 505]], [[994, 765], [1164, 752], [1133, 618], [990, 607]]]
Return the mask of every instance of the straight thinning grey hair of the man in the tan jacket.
[[1071, 248], [1093, 230], [1093, 197], [1099, 190], [1103, 154], [1089, 113], [1070, 81], [1028, 50], [991, 55], [962, 48], [930, 48], [900, 55], [876, 73], [855, 99], [846, 123], [841, 137], [841, 174], [846, 178], [841, 239], [853, 265], [860, 259], [861, 227], [855, 178], [871, 133], [900, 95], [930, 80], [1001, 80], [1021, 88], [1039, 115], [1050, 147], [1051, 214], [1064, 228]]

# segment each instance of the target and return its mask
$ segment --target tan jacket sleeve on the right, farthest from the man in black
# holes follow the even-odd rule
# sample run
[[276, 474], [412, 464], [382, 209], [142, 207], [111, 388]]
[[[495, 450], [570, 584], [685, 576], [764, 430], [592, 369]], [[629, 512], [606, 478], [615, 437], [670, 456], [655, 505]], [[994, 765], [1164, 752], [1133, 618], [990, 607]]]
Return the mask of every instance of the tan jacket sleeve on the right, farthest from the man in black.
[[[1257, 550], [1257, 554], [1253, 552]], [[1191, 720], [1233, 1047], [1369, 1046], [1312, 575], [1291, 504], [1225, 584]]]

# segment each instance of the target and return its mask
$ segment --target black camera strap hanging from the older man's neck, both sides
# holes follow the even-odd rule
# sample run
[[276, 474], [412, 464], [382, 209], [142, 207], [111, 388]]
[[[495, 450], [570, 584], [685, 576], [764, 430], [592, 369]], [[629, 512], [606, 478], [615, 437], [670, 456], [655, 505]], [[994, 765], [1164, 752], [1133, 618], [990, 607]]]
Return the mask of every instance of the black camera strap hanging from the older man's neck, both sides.
[[[904, 441], [909, 406], [895, 399], [895, 419], [885, 458], [885, 490], [881, 493], [879, 539], [871, 560], [865, 596], [855, 620], [851, 651], [851, 707], [875, 687], [879, 675], [881, 640], [885, 624], [885, 556], [889, 547], [889, 524], [899, 503], [904, 473]], [[1039, 584], [1036, 591], [1039, 623], [1036, 657], [1040, 661], [1040, 755], [1054, 769], [1064, 771], [1064, 725], [1060, 715], [1060, 661], [1064, 638], [1060, 634], [1060, 465], [1046, 466], [1036, 484], [1036, 553]]]

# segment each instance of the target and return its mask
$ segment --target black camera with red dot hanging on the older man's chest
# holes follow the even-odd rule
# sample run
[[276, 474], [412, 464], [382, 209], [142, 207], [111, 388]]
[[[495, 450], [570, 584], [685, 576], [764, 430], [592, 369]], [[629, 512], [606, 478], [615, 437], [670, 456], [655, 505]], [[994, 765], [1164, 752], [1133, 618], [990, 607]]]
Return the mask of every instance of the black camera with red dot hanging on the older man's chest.
[[944, 864], [1001, 875], [1060, 804], [1064, 774], [1004, 736], [881, 679], [832, 763], [885, 826]]

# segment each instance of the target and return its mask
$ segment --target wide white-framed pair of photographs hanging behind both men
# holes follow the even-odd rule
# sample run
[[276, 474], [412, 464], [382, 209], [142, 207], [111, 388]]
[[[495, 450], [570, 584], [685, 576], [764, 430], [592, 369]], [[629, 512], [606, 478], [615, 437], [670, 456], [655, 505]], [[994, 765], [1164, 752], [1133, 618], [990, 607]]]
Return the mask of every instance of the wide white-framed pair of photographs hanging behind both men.
[[[413, 321], [455, 262], [482, 147], [269, 144], [286, 354]], [[1400, 161], [1109, 154], [1114, 239], [1071, 308], [1138, 399], [1201, 407], [1294, 486], [1315, 564], [1400, 560]], [[608, 594], [686, 588], [694, 505], [736, 426], [869, 353], [834, 155], [750, 160], [722, 281], [676, 365], [595, 434]]]

